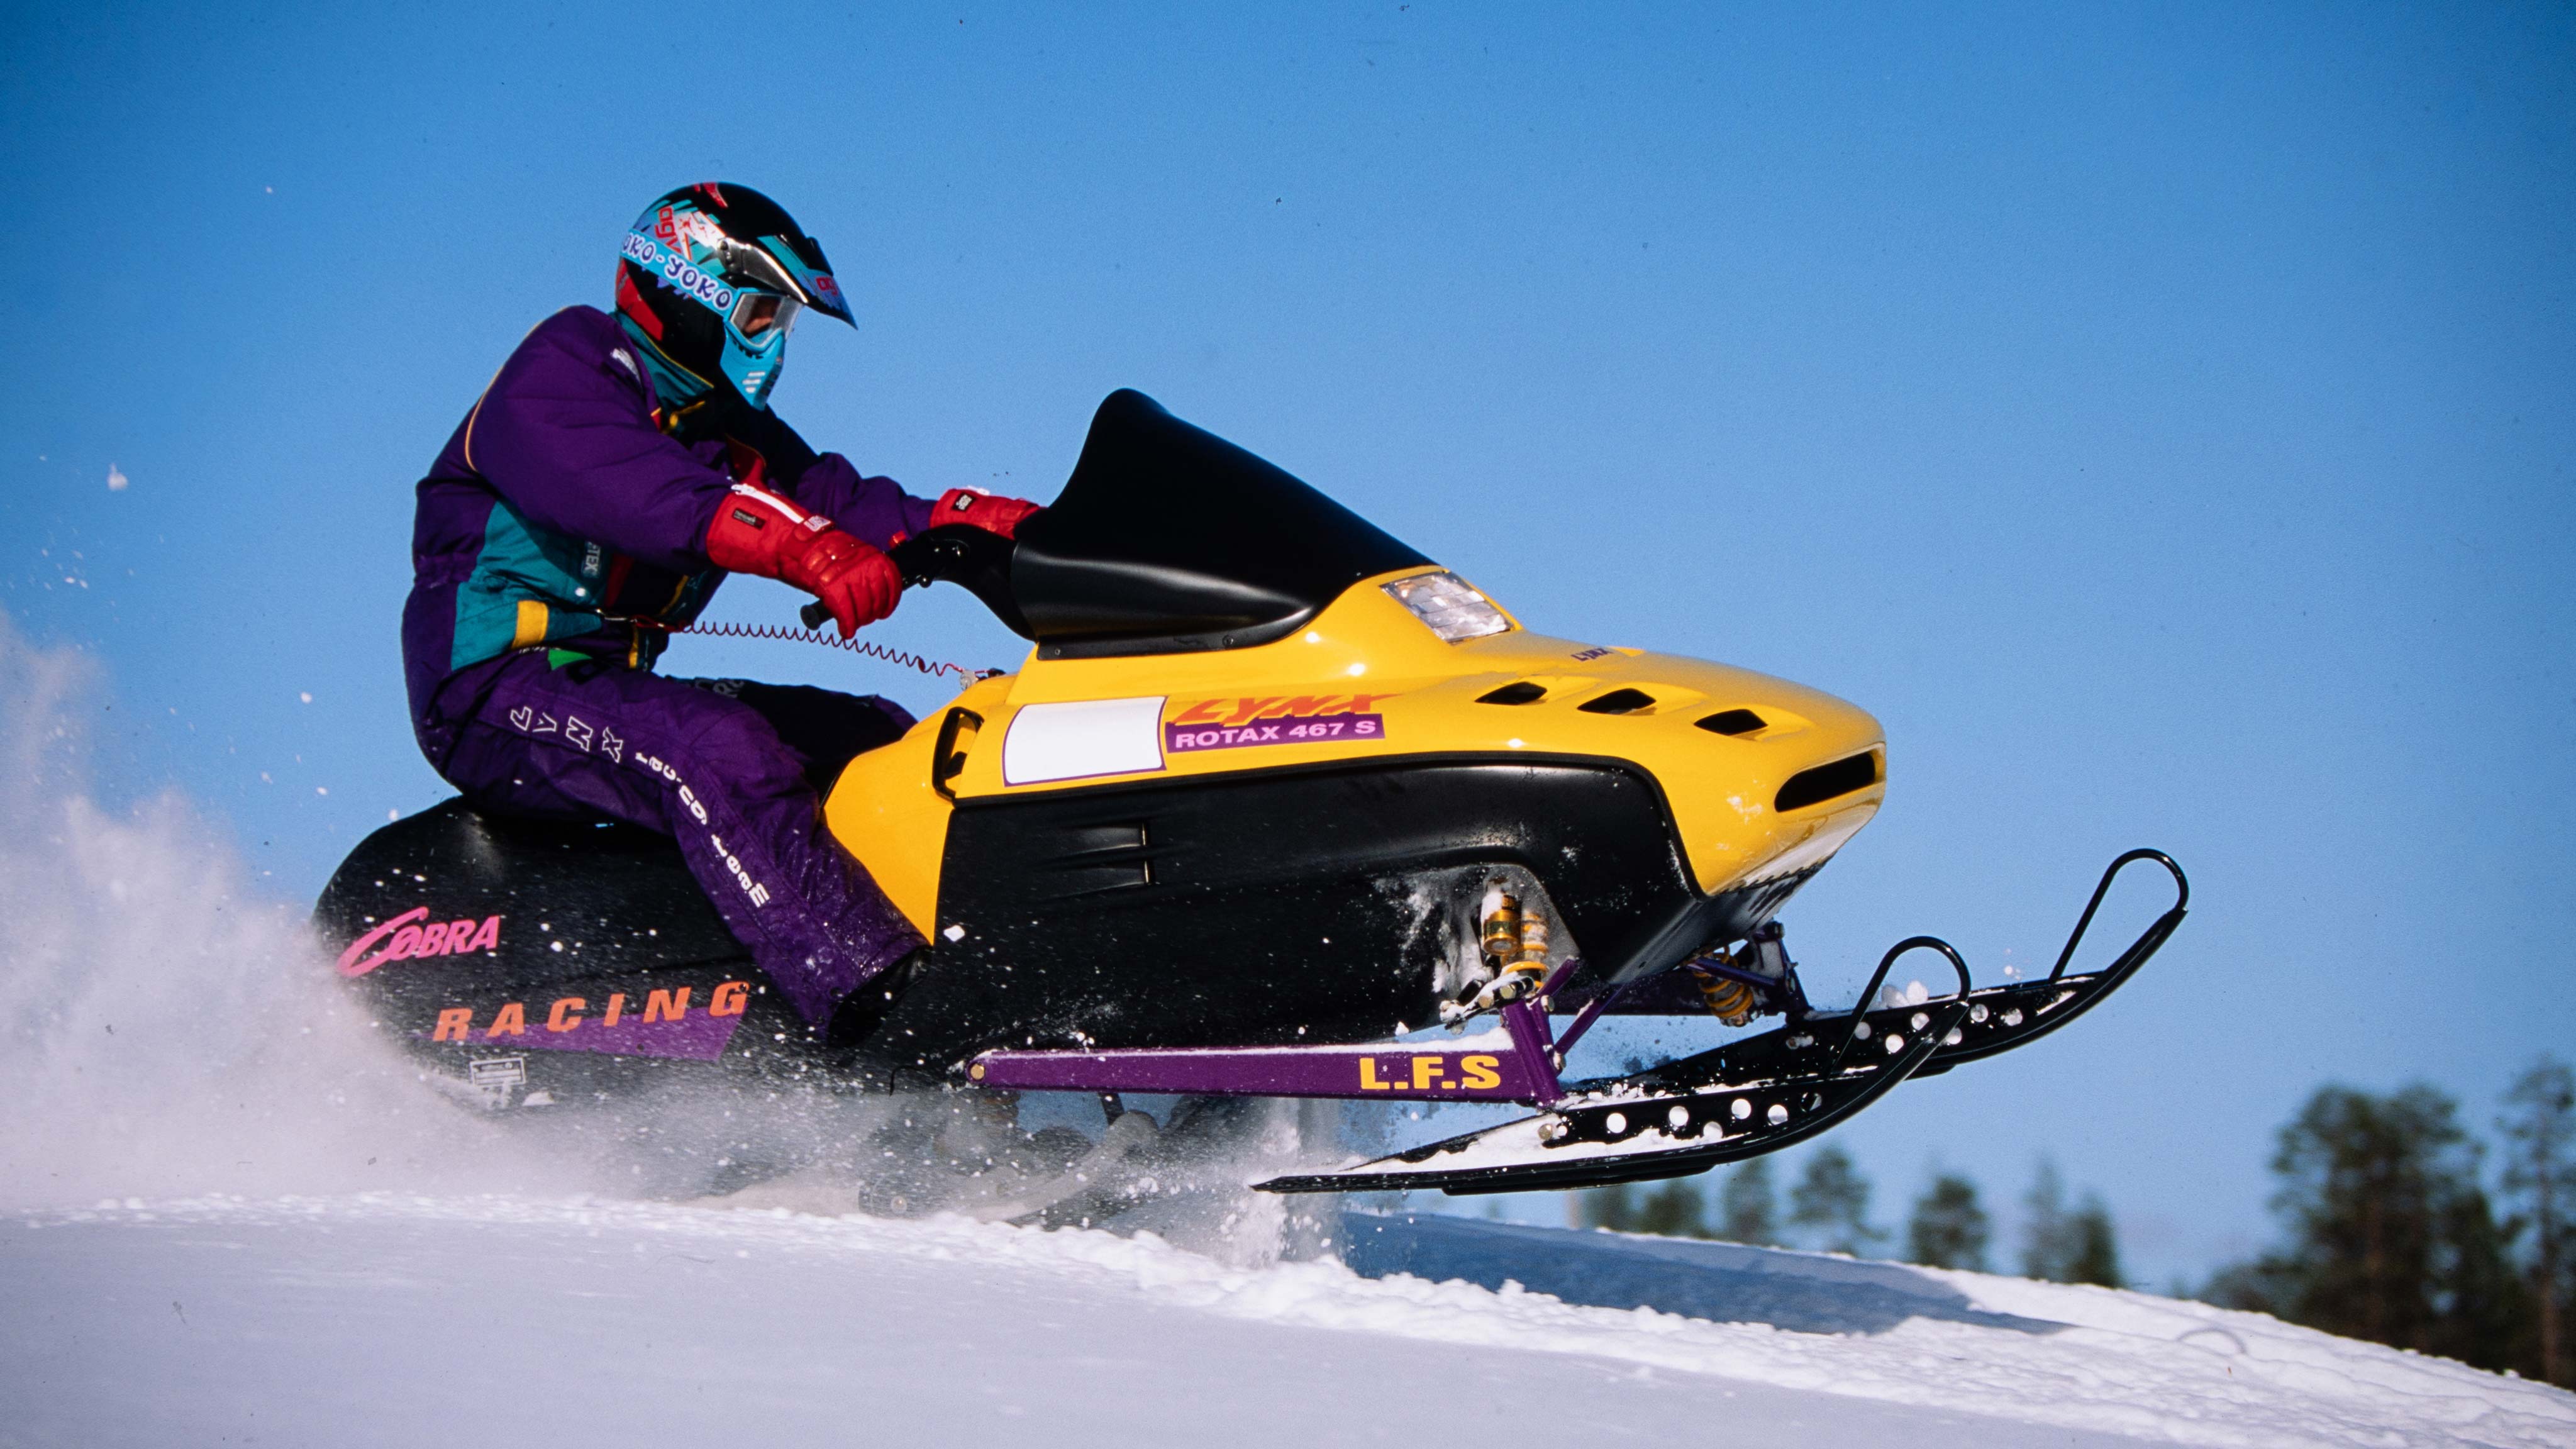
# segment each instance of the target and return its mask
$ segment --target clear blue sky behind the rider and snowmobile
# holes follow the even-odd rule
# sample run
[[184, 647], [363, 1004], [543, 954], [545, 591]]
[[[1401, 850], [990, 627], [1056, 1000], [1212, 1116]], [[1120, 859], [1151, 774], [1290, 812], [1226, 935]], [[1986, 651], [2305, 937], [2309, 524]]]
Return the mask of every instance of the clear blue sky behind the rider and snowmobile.
[[[2566, 8], [21, 5], [0, 46], [0, 611], [111, 670], [116, 789], [281, 897], [443, 794], [412, 480], [726, 178], [860, 315], [778, 410], [914, 492], [1043, 500], [1141, 387], [1546, 632], [1873, 709], [1888, 810], [1788, 913], [1821, 982], [1914, 931], [2045, 967], [2174, 851], [2197, 910], [2123, 998], [1839, 1134], [1883, 1217], [2048, 1150], [2197, 1274], [2316, 1083], [2483, 1124], [2576, 1042]], [[878, 637], [1015, 657], [963, 596]]]

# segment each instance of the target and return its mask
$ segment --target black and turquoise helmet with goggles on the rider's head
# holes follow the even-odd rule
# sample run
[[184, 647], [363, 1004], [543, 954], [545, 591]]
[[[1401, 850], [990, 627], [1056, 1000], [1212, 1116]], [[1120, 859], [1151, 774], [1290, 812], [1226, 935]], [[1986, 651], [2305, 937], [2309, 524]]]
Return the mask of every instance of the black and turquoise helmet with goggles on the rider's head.
[[765, 407], [806, 307], [853, 322], [814, 237], [750, 186], [662, 193], [618, 253], [618, 317], [652, 353], [654, 382], [690, 400], [721, 376]]

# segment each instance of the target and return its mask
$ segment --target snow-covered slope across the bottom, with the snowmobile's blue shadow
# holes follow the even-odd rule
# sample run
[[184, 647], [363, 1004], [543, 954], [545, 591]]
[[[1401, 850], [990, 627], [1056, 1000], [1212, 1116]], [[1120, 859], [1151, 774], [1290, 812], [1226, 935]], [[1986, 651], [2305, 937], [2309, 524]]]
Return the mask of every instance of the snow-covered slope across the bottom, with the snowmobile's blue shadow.
[[2576, 1444], [2576, 1395], [2123, 1294], [1360, 1217], [185, 1199], [0, 1225], [0, 1444]]

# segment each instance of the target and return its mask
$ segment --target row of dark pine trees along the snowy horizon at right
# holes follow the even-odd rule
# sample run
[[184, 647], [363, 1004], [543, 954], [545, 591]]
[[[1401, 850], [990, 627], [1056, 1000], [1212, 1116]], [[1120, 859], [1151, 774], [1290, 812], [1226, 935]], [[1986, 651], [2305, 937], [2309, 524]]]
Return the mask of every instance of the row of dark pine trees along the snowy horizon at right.
[[[2501, 1173], [2486, 1189], [2486, 1142], [2432, 1085], [2385, 1096], [2318, 1088], [2280, 1127], [2272, 1214], [2280, 1240], [2177, 1297], [2269, 1312], [2347, 1338], [2442, 1354], [2576, 1387], [2576, 1073], [2540, 1057], [2506, 1093]], [[2125, 1287], [2110, 1207], [2069, 1201], [2040, 1160], [2022, 1196], [2022, 1276]], [[1785, 1201], [1770, 1158], [1728, 1168], [1710, 1204], [1692, 1178], [1577, 1194], [1587, 1227], [1723, 1238], [1878, 1256], [1870, 1181], [1842, 1147], [1806, 1158]], [[1989, 1269], [1994, 1222], [1963, 1173], [1935, 1173], [1904, 1225], [1904, 1261]]]

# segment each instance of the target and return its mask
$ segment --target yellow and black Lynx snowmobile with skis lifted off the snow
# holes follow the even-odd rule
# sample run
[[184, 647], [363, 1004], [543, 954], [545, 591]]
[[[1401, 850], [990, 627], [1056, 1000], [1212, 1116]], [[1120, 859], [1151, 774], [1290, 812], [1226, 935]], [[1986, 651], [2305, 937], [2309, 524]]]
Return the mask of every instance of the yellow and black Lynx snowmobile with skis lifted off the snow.
[[[317, 905], [376, 1024], [495, 1109], [685, 1073], [1100, 1093], [1113, 1114], [1121, 1093], [1520, 1104], [1257, 1186], [1569, 1189], [1772, 1152], [2025, 1047], [2136, 975], [2190, 900], [2169, 856], [2130, 851], [2045, 980], [1973, 985], [1914, 936], [1855, 1003], [1819, 1006], [1777, 915], [1886, 797], [1870, 714], [1535, 634], [1139, 392], [1100, 405], [1018, 541], [930, 529], [894, 559], [1033, 647], [855, 753], [824, 799], [930, 941], [871, 987], [866, 1031], [796, 1018], [667, 838], [453, 799], [368, 835]], [[2071, 969], [2130, 866], [2164, 869], [2174, 905]], [[1955, 987], [1886, 993], [1911, 951]], [[1777, 1021], [1569, 1080], [1613, 1013]]]

